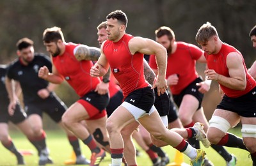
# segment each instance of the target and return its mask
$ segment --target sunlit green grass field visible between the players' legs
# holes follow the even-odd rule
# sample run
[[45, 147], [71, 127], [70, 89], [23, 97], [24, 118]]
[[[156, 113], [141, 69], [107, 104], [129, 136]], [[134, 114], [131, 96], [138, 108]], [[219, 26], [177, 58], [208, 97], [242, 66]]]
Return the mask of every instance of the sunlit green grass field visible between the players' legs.
[[[241, 128], [236, 128], [230, 130], [230, 132], [240, 135]], [[65, 160], [68, 160], [72, 154], [72, 147], [69, 145], [67, 137], [62, 130], [47, 130], [47, 145], [51, 150], [51, 158], [54, 161], [53, 165], [65, 165]], [[26, 165], [38, 165], [38, 156], [36, 154], [35, 148], [30, 144], [30, 142], [20, 133], [19, 131], [10, 132], [10, 135], [15, 143], [17, 149], [31, 149], [35, 152], [34, 155], [24, 156], [24, 160], [26, 161]], [[86, 147], [81, 142], [81, 147], [83, 149], [83, 155], [86, 158], [90, 159], [90, 151], [88, 147]], [[137, 146], [138, 147], [138, 146]], [[203, 146], [202, 146], [203, 147]], [[204, 147], [203, 147], [204, 148]], [[140, 147], [138, 149], [141, 151]], [[173, 158], [175, 156], [175, 149], [170, 146], [163, 147], [164, 151], [168, 153], [170, 156], [171, 162], [173, 162]], [[211, 147], [205, 149], [207, 153], [207, 158], [211, 160], [212, 163], [216, 166], [226, 165], [225, 160], [221, 158], [216, 151], [214, 151]], [[227, 147], [227, 150], [230, 153], [233, 153], [237, 157], [237, 165], [244, 166], [244, 165], [252, 165], [252, 161], [248, 158], [249, 153], [247, 151], [237, 149], [237, 148], [230, 148]], [[142, 155], [137, 157], [138, 165], [141, 166], [149, 166], [152, 165], [150, 159], [148, 158], [147, 154], [141, 151]], [[187, 156], [183, 157], [185, 163], [189, 163], [189, 158]], [[108, 166], [111, 162], [110, 155], [107, 154], [104, 161], [100, 164], [102, 166]], [[3, 146], [0, 145], [0, 165], [16, 165], [17, 161], [14, 155], [10, 153], [10, 151], [6, 150]]]

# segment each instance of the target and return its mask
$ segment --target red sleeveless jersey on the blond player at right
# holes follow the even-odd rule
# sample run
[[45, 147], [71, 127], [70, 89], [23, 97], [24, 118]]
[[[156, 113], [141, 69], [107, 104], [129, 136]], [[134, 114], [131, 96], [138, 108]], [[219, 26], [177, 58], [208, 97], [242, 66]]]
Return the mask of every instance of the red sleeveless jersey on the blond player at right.
[[[241, 55], [241, 57], [243, 58], [239, 50], [235, 49], [231, 45], [228, 45], [227, 43], [223, 43], [218, 54], [204, 54], [205, 58], [207, 59], [208, 68], [214, 70], [216, 73], [224, 75], [225, 77], [230, 77], [227, 68], [227, 56], [230, 52], [237, 52], [237, 54]], [[223, 90], [223, 92], [230, 98], [237, 98], [239, 96], [243, 96], [243, 94], [250, 92], [253, 89], [253, 87], [256, 86], [255, 80], [247, 71], [246, 65], [244, 64], [244, 59], [243, 66], [246, 73], [246, 88], [244, 91], [230, 89], [220, 84], [220, 87]]]

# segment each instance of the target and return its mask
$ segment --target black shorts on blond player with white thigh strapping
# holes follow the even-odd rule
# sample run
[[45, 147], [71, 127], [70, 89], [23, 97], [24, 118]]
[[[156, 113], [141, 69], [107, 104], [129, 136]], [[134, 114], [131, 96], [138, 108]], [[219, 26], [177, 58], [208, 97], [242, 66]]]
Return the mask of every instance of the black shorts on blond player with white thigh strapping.
[[256, 117], [256, 87], [238, 98], [224, 95], [217, 109], [230, 110], [243, 117]]

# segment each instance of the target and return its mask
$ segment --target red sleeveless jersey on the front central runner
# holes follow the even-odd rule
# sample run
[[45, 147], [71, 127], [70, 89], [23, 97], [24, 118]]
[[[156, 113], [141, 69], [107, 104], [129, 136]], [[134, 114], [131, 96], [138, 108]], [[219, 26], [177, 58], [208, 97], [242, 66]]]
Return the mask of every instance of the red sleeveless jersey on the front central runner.
[[124, 98], [136, 89], [149, 86], [144, 77], [144, 55], [140, 52], [131, 54], [128, 46], [131, 38], [133, 36], [124, 34], [117, 42], [106, 40], [102, 49], [113, 75], [120, 84]]

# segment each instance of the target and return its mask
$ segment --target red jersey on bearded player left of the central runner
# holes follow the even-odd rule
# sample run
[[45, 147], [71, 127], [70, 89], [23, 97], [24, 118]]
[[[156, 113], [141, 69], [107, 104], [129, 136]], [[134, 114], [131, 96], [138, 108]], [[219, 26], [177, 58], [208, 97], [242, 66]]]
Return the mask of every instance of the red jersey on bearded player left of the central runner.
[[77, 61], [74, 56], [74, 49], [79, 44], [65, 43], [65, 52], [62, 55], [52, 57], [52, 63], [62, 75], [68, 84], [74, 88], [81, 97], [84, 94], [93, 91], [99, 84], [99, 77], [91, 77], [90, 69], [93, 66], [92, 61]]

